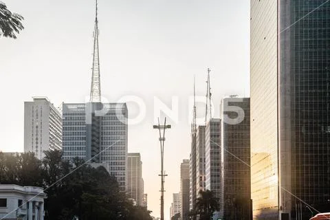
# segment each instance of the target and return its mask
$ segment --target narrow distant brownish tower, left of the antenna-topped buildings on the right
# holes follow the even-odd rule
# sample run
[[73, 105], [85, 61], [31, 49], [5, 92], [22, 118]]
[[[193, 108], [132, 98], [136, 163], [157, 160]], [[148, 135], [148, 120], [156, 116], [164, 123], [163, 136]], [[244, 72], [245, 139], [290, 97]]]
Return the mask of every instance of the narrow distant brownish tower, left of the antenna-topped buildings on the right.
[[181, 182], [181, 220], [188, 220], [189, 207], [189, 159], [184, 159], [180, 166]]

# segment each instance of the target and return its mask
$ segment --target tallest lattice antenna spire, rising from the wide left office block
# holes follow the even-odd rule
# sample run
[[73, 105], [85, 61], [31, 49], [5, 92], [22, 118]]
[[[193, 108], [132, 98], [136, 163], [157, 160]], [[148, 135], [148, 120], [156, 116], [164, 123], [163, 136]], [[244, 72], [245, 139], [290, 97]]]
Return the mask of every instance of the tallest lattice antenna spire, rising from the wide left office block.
[[99, 50], [98, 50], [98, 0], [96, 0], [93, 67], [91, 69], [92, 71], [91, 71], [90, 102], [101, 102], [100, 60], [99, 60]]

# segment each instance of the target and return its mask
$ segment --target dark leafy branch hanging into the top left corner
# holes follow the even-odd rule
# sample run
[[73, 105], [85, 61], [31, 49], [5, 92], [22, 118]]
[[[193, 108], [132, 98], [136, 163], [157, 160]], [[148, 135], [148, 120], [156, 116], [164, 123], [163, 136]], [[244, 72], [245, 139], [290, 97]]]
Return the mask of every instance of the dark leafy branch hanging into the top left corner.
[[16, 33], [24, 28], [21, 23], [23, 19], [20, 14], [10, 12], [5, 3], [0, 1], [0, 36], [17, 39]]

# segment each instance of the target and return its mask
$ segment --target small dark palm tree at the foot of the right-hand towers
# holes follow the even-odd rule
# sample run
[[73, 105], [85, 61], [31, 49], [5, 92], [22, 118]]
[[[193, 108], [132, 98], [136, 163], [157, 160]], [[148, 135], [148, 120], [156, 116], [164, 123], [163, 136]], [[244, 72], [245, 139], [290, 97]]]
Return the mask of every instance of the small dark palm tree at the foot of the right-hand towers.
[[199, 197], [196, 201], [196, 210], [200, 220], [210, 220], [212, 214], [218, 208], [217, 198], [210, 190], [199, 191]]

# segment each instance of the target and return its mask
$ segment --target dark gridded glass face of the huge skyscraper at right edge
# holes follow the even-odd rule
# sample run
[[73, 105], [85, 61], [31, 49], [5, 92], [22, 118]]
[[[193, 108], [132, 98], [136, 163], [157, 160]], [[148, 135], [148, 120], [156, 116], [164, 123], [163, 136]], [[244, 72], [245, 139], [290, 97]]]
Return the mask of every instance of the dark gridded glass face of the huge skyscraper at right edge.
[[[291, 155], [291, 178], [285, 189], [281, 184], [280, 206], [292, 219], [302, 203], [296, 197], [321, 212], [330, 207], [330, 2], [322, 3], [280, 3], [280, 150], [287, 148]], [[308, 219], [305, 205], [302, 212]]]

